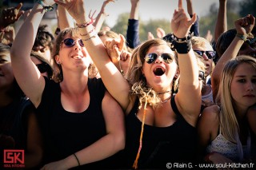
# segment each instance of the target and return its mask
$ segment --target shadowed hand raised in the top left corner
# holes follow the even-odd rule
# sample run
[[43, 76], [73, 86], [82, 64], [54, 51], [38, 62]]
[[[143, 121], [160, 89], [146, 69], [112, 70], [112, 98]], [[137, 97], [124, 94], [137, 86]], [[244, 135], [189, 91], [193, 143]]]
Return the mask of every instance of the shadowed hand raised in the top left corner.
[[2, 10], [1, 18], [0, 18], [0, 26], [5, 28], [10, 24], [16, 22], [22, 14], [24, 14], [24, 10], [21, 10], [22, 3], [19, 3], [16, 7], [10, 7]]

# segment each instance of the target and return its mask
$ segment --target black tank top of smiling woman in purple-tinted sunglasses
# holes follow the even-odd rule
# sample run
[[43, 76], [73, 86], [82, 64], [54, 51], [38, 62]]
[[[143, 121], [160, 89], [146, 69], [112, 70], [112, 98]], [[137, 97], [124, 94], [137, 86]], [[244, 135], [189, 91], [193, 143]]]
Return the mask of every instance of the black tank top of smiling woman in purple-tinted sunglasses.
[[[45, 146], [43, 164], [62, 160], [106, 136], [102, 115], [102, 99], [106, 89], [102, 79], [88, 78], [90, 105], [82, 113], [70, 113], [63, 109], [60, 84], [46, 78], [45, 81], [42, 101], [37, 109]], [[78, 168], [102, 167], [107, 167], [107, 161], [85, 164]]]

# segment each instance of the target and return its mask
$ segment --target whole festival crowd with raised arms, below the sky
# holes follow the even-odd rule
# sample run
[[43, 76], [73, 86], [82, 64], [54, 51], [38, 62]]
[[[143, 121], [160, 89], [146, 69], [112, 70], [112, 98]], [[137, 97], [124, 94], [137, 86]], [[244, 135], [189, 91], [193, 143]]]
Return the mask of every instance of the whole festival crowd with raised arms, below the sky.
[[[142, 42], [140, 1], [130, 0], [126, 35], [102, 27], [114, 0], [95, 18], [83, 0], [3, 10], [1, 168], [6, 149], [24, 150], [27, 169], [256, 168], [255, 17], [227, 30], [219, 0], [214, 36], [203, 38], [192, 0], [187, 11], [178, 0], [172, 32]], [[51, 34], [41, 23], [55, 3]]]

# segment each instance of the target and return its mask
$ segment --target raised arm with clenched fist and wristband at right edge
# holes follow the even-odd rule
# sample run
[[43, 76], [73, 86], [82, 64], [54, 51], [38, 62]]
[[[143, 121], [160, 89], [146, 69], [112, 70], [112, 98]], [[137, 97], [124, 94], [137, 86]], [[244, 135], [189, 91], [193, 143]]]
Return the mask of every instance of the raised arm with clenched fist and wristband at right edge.
[[234, 57], [237, 57], [242, 44], [245, 42], [247, 38], [247, 34], [249, 34], [251, 30], [254, 28], [254, 24], [255, 24], [255, 18], [251, 14], [247, 15], [245, 18], [240, 18], [234, 22], [234, 26], [237, 30], [237, 36], [234, 38], [234, 40], [231, 42], [229, 47], [226, 49], [225, 53], [223, 53], [222, 57], [220, 57], [212, 73], [211, 83], [212, 83], [214, 100], [218, 93], [218, 85], [219, 85], [222, 69], [226, 65], [227, 61], [229, 61]]

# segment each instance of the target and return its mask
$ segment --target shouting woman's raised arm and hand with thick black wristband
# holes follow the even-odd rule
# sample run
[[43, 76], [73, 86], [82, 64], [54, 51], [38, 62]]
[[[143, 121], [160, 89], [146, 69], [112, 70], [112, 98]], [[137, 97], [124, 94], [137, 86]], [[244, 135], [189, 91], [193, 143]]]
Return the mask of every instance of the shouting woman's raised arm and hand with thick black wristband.
[[[190, 27], [196, 21], [196, 14], [192, 18], [187, 16], [182, 7], [182, 0], [178, 1], [178, 10], [174, 10], [171, 20], [171, 29], [174, 37], [183, 41], [174, 40], [174, 48], [178, 53], [178, 65], [180, 69], [180, 81], [178, 93], [175, 97], [178, 110], [185, 117], [198, 117], [201, 105], [201, 90], [198, 82], [198, 65], [193, 49], [188, 39]], [[186, 113], [186, 114], [185, 114]], [[190, 119], [190, 118], [189, 118]]]

